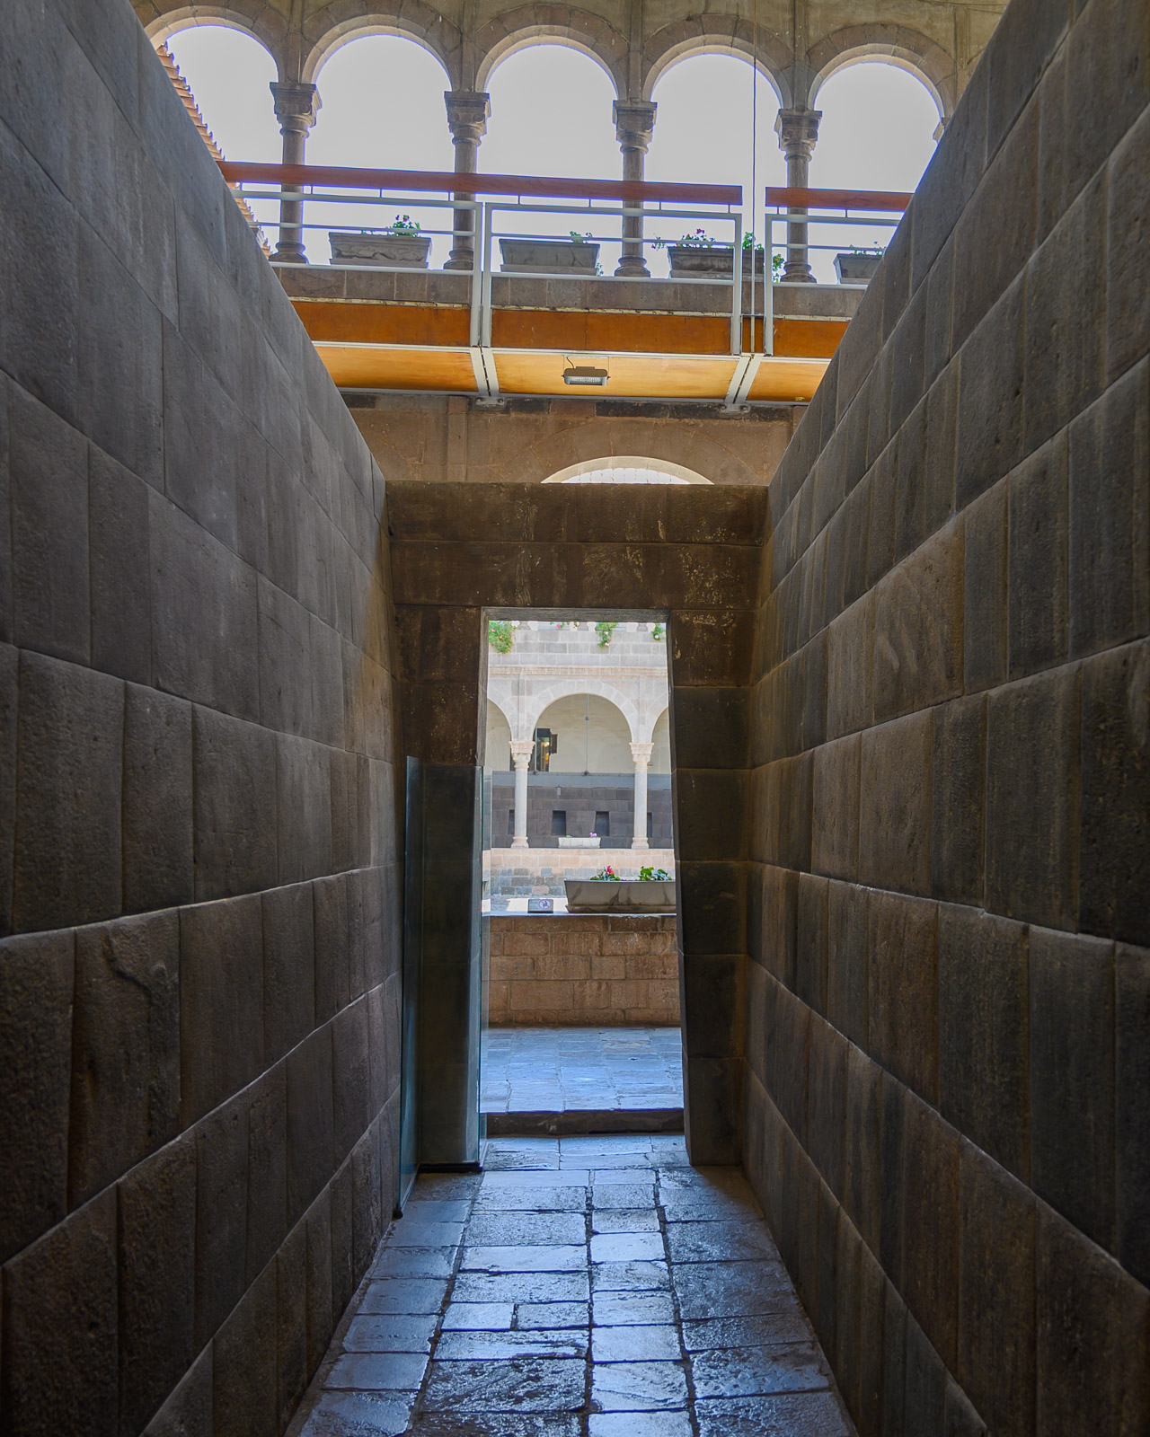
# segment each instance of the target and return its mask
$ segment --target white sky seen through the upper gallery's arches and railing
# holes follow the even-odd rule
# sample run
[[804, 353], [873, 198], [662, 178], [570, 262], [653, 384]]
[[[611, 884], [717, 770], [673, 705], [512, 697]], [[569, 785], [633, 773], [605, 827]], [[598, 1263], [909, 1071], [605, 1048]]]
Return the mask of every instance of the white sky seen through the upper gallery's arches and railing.
[[[200, 111], [229, 160], [280, 158], [272, 114], [272, 57], [250, 36], [221, 26], [194, 26], [170, 42]], [[447, 76], [427, 50], [397, 36], [364, 36], [336, 50], [316, 83], [322, 108], [308, 141], [313, 164], [381, 165], [398, 170], [451, 170], [453, 149], [443, 92]], [[756, 190], [783, 184], [786, 170], [773, 132], [778, 99], [766, 79], [753, 78], [736, 55], [699, 55], [667, 70], [656, 86], [658, 103], [647, 178], [742, 184], [745, 208], [752, 177], [752, 85], [758, 83]], [[487, 174], [542, 174], [617, 178], [621, 157], [611, 122], [614, 88], [588, 56], [556, 45], [518, 50], [489, 80], [492, 116], [480, 145], [479, 168]], [[926, 88], [904, 70], [881, 62], [848, 66], [819, 91], [819, 139], [811, 184], [852, 190], [913, 190], [934, 152], [939, 122]], [[450, 226], [448, 211], [413, 210], [423, 227]], [[390, 210], [328, 208], [309, 216], [336, 227], [387, 224]], [[538, 217], [526, 231], [565, 234], [595, 230], [582, 217]], [[703, 223], [703, 221], [699, 221]], [[509, 227], [516, 221], [507, 217]], [[696, 221], [667, 221], [677, 237]], [[750, 228], [749, 208], [743, 228]], [[732, 227], [712, 226], [716, 239]], [[598, 231], [597, 231], [598, 233]], [[617, 233], [617, 231], [615, 231]], [[648, 230], [650, 233], [650, 230]], [[812, 231], [811, 239], [815, 239]], [[868, 236], [824, 234], [838, 243], [867, 243]], [[436, 241], [433, 264], [443, 262], [447, 240]], [[326, 256], [322, 233], [309, 239], [313, 260]], [[601, 254], [608, 273], [615, 253]], [[666, 260], [650, 254], [660, 273]], [[822, 277], [829, 260], [816, 263]]]

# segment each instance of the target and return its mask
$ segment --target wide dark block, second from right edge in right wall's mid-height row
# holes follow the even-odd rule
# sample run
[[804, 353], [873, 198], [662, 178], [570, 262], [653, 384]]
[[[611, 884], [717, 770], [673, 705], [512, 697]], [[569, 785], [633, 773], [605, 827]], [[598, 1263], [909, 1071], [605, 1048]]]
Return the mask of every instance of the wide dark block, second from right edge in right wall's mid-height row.
[[[1059, 775], [1058, 783], [1049, 775]], [[1071, 927], [1075, 891], [1078, 674], [996, 690], [986, 723], [986, 907]]]

